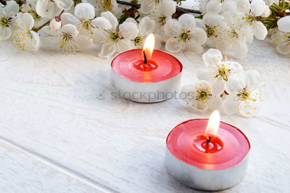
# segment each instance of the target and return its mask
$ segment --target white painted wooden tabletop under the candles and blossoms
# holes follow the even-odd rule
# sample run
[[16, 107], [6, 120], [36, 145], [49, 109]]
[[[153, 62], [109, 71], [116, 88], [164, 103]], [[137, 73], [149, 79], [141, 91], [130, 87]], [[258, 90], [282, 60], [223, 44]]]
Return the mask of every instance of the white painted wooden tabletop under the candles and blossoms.
[[[167, 173], [165, 140], [180, 122], [210, 112], [181, 100], [110, 100], [110, 59], [97, 58], [97, 47], [86, 52], [0, 42], [0, 192], [199, 192]], [[247, 135], [251, 154], [242, 182], [220, 192], [290, 192], [290, 56], [269, 38], [254, 40], [242, 58], [223, 54], [267, 85], [260, 116], [222, 116]], [[202, 54], [175, 56], [182, 85], [197, 81]], [[107, 98], [97, 100], [100, 93]]]

